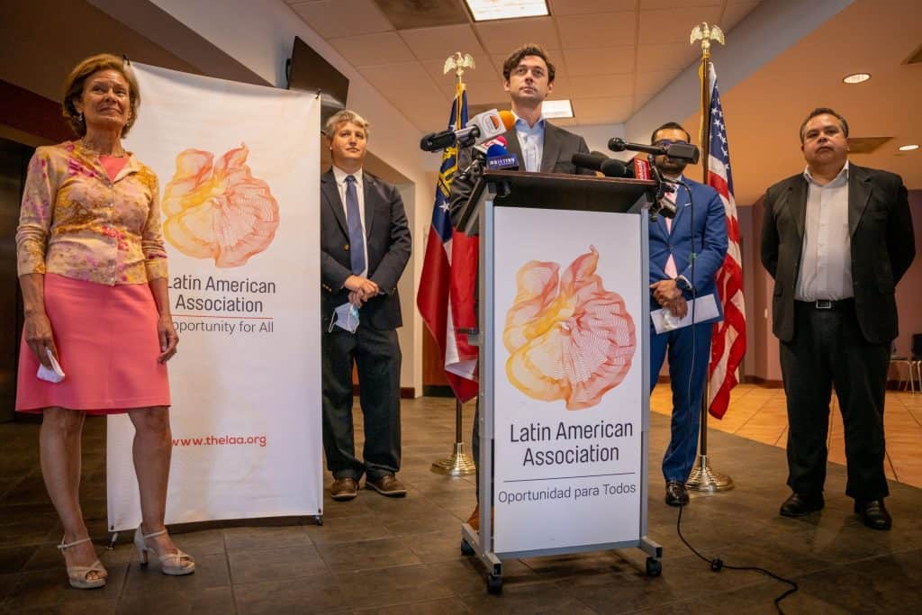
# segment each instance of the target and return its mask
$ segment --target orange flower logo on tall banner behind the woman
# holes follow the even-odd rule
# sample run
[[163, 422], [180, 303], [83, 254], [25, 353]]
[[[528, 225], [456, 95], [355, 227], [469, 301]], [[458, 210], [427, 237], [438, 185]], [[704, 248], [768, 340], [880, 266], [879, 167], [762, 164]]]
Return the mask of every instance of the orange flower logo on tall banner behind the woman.
[[278, 229], [278, 203], [246, 165], [245, 144], [215, 162], [214, 154], [186, 149], [163, 190], [163, 234], [180, 252], [214, 258], [219, 267], [245, 265], [269, 247]]

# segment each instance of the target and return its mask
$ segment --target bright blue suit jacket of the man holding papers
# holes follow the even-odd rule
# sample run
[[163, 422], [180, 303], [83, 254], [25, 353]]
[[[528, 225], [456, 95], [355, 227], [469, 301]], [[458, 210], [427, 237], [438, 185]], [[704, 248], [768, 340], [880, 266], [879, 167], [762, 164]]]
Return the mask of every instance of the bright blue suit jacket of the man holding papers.
[[[650, 283], [669, 278], [665, 269], [669, 254], [672, 254], [679, 275], [691, 282], [696, 296], [715, 295], [720, 315], [708, 321], [701, 321], [714, 323], [723, 320], [724, 317], [720, 297], [717, 295], [715, 276], [727, 255], [727, 212], [714, 188], [693, 182], [684, 176], [682, 180], [691, 187], [691, 196], [684, 186], [678, 186], [676, 217], [672, 220], [671, 231], [667, 230], [666, 219], [662, 216], [657, 216], [655, 221], [650, 222]], [[692, 236], [694, 252], [697, 254], [693, 276]], [[686, 300], [691, 301], [691, 290], [684, 290], [682, 294]], [[652, 292], [650, 309], [659, 309]]]

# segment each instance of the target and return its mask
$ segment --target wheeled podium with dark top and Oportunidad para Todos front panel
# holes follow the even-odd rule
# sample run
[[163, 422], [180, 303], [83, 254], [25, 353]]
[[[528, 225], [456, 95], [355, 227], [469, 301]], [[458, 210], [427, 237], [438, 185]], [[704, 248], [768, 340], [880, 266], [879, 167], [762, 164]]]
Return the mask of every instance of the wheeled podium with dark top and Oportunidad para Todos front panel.
[[[461, 218], [461, 229], [480, 234], [477, 427], [482, 443], [480, 531], [462, 526], [461, 551], [476, 555], [486, 567], [491, 594], [502, 592], [502, 560], [506, 558], [637, 548], [647, 555], [646, 574], [662, 572], [662, 547], [646, 536], [650, 429], [647, 232], [655, 193], [656, 183], [650, 181], [487, 171]], [[591, 243], [591, 252], [586, 253], [586, 243]], [[586, 254], [564, 270], [573, 250]], [[558, 261], [550, 260], [554, 257]], [[558, 262], [559, 283], [554, 268]], [[586, 263], [592, 264], [591, 270]], [[550, 270], [554, 276], [548, 277], [545, 294], [541, 294], [536, 280]], [[578, 316], [575, 310], [572, 316], [564, 313], [548, 325], [556, 313], [570, 309], [561, 305], [571, 305], [564, 292], [579, 286], [573, 281], [574, 272], [577, 278], [583, 276], [583, 281], [577, 280], [582, 288], [597, 285], [590, 303], [599, 296], [605, 305], [620, 302], [621, 312], [615, 316], [623, 322], [611, 337], [619, 344], [606, 349], [608, 359], [603, 363], [608, 367], [618, 352], [626, 359], [621, 372], [592, 372], [590, 375], [598, 373], [609, 379], [598, 388], [601, 392], [588, 400], [567, 398], [564, 408], [563, 399], [546, 390], [553, 380], [549, 374], [555, 372], [550, 367], [535, 378], [538, 388], [523, 384], [526, 367], [557, 365], [555, 373], [559, 373], [561, 363], [540, 354], [516, 361], [519, 355], [514, 353], [522, 351], [514, 349], [516, 337], [522, 336], [515, 327], [528, 335], [537, 330], [557, 335], [554, 331], [559, 326], [566, 331], [558, 335], [561, 339], [580, 335], [597, 339], [593, 337], [597, 331], [572, 330]], [[549, 295], [558, 290], [556, 299]], [[543, 302], [550, 315], [534, 315], [537, 302]], [[595, 309], [593, 305], [599, 302], [586, 307], [586, 313]], [[521, 306], [530, 312], [525, 316], [516, 312]], [[605, 316], [596, 313], [594, 322], [604, 321]], [[611, 313], [608, 316], [610, 321]], [[590, 320], [585, 316], [583, 322]], [[536, 341], [532, 337], [521, 348], [554, 352], [564, 344], [556, 339]], [[589, 347], [592, 344], [597, 341]], [[564, 359], [588, 357], [592, 354], [589, 347], [581, 355], [573, 352]], [[578, 362], [578, 357], [573, 361]], [[566, 372], [566, 361], [563, 364]], [[632, 429], [634, 424], [640, 426], [638, 432]], [[583, 433], [584, 439], [575, 439], [574, 432]], [[576, 461], [549, 461], [571, 458]]]

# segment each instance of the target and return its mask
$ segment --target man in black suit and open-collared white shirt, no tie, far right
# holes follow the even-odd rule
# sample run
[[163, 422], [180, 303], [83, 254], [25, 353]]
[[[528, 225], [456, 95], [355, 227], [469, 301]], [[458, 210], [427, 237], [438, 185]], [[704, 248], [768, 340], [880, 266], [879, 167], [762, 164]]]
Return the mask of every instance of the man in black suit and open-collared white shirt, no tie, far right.
[[762, 265], [774, 278], [774, 335], [787, 396], [781, 514], [823, 507], [829, 402], [845, 427], [845, 494], [866, 526], [890, 529], [883, 402], [897, 335], [894, 288], [916, 255], [903, 180], [848, 161], [848, 124], [816, 109], [800, 126], [807, 169], [765, 194]]

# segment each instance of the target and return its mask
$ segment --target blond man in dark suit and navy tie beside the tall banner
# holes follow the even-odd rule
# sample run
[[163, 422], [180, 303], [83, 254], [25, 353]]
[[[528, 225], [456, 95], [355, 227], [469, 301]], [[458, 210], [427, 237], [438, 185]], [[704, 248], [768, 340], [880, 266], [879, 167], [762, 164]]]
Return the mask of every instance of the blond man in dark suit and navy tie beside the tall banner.
[[[334, 500], [365, 487], [407, 494], [400, 469], [400, 346], [397, 281], [410, 254], [403, 199], [362, 171], [368, 123], [344, 110], [326, 122], [333, 167], [320, 179], [324, 450]], [[358, 323], [356, 323], [358, 313]], [[358, 325], [357, 327], [355, 325]], [[352, 368], [359, 372], [365, 446], [355, 455]]]

